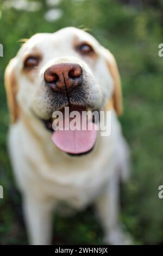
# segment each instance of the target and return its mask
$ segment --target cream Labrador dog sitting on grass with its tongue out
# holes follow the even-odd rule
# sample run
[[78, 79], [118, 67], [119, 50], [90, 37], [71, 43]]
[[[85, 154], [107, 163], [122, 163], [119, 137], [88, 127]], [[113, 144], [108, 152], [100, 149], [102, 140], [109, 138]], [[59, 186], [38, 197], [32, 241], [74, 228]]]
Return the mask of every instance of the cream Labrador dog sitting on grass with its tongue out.
[[[29, 243], [51, 244], [52, 213], [66, 203], [76, 210], [94, 204], [105, 243], [129, 244], [118, 217], [118, 184], [128, 177], [129, 150], [117, 119], [123, 109], [114, 56], [78, 28], [35, 34], [10, 60], [5, 88], [9, 154]], [[110, 135], [54, 131], [52, 114], [66, 106], [70, 112], [109, 111]]]

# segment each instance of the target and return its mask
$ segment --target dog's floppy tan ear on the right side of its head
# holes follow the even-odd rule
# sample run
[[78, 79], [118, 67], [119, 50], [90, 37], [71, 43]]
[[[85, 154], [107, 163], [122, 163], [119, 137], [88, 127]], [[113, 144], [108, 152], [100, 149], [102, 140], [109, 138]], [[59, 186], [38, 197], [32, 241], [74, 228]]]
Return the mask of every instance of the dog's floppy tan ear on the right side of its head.
[[123, 105], [120, 74], [118, 72], [116, 60], [112, 53], [109, 50], [106, 50], [105, 48], [103, 48], [103, 51], [104, 57], [106, 59], [106, 64], [114, 81], [114, 93], [112, 95], [113, 105], [117, 115], [121, 115], [123, 112]]

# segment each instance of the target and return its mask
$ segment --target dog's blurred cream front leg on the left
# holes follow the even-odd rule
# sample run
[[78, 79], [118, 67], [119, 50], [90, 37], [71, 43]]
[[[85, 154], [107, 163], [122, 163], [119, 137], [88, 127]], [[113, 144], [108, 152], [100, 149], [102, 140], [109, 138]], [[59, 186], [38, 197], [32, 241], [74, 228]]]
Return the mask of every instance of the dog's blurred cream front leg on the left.
[[29, 242], [31, 245], [49, 245], [52, 240], [52, 211], [54, 202], [51, 200], [25, 196], [23, 210]]

